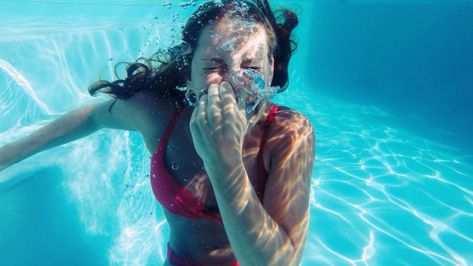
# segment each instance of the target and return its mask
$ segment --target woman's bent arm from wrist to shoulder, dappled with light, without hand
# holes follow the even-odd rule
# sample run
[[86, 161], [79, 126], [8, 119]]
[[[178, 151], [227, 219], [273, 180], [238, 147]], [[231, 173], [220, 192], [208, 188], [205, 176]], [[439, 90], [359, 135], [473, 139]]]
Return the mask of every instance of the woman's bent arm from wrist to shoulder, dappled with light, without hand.
[[266, 145], [272, 147], [270, 170], [263, 203], [242, 160], [205, 167], [240, 264], [296, 266], [309, 226], [315, 135], [309, 120], [291, 110], [278, 112], [271, 127], [272, 137]]

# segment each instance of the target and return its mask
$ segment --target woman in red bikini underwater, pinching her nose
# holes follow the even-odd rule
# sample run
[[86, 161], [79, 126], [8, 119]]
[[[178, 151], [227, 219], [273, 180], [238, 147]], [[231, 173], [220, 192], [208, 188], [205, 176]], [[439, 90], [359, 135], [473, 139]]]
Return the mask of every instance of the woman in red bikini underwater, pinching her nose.
[[115, 99], [1, 147], [0, 170], [102, 128], [137, 131], [170, 228], [165, 265], [299, 265], [315, 137], [304, 115], [270, 100], [287, 88], [297, 24], [267, 0], [206, 2], [159, 65], [93, 84]]

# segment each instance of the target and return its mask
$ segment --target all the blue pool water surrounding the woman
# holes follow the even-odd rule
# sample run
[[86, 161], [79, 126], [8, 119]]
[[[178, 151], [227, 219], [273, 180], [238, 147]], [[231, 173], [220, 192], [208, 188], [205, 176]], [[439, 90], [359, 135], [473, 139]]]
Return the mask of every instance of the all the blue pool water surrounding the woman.
[[[0, 145], [106, 99], [87, 86], [170, 45], [192, 3], [0, 1]], [[302, 265], [473, 264], [473, 3], [284, 3], [299, 49], [275, 101], [317, 137]], [[0, 265], [161, 265], [148, 172], [114, 130], [0, 172]]]

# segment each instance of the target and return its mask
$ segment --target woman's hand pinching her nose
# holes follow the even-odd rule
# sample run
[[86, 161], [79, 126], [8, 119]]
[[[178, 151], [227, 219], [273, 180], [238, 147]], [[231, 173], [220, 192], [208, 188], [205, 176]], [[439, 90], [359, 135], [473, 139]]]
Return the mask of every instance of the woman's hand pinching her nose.
[[233, 165], [242, 159], [247, 131], [245, 101], [237, 104], [229, 82], [210, 85], [208, 94], [200, 98], [192, 113], [190, 130], [197, 154], [206, 167]]

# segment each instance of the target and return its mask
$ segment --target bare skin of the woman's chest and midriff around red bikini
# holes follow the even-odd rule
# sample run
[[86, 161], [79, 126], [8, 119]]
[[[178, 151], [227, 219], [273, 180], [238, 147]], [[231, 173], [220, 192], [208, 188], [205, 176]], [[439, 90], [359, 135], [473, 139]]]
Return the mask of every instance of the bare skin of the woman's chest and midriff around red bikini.
[[[142, 130], [145, 144], [153, 154], [164, 134], [166, 126], [174, 112], [175, 106], [162, 100], [153, 101], [154, 105], [145, 105], [144, 109], [150, 109], [156, 114], [153, 121], [149, 121], [149, 127]], [[159, 111], [152, 109], [160, 109]], [[268, 114], [268, 108], [263, 112], [260, 122], [245, 137], [243, 147], [243, 162], [253, 187], [258, 179], [258, 150], [263, 135], [263, 123]], [[165, 165], [167, 171], [174, 179], [184, 186], [197, 200], [202, 202], [208, 209], [217, 209], [217, 202], [210, 183], [205, 173], [203, 162], [197, 155], [192, 142], [189, 129], [192, 108], [186, 107], [181, 111], [170, 135], [166, 151]], [[263, 162], [266, 170], [269, 169], [270, 147], [265, 147]], [[170, 228], [169, 245], [180, 256], [196, 261], [207, 262], [206, 264], [221, 264], [225, 261], [233, 261], [234, 256], [230, 248], [228, 238], [222, 223], [207, 219], [188, 219], [176, 216], [163, 209]]]

